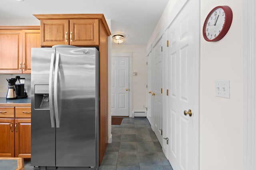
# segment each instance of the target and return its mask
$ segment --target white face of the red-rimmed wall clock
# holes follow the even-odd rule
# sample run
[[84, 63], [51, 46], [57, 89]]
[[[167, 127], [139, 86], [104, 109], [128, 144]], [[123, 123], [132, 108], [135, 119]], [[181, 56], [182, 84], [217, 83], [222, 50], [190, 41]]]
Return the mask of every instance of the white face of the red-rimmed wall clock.
[[217, 8], [212, 12], [210, 17], [207, 20], [206, 24], [206, 37], [210, 40], [216, 38], [220, 32], [222, 31], [222, 28], [225, 23], [225, 12], [222, 8]]

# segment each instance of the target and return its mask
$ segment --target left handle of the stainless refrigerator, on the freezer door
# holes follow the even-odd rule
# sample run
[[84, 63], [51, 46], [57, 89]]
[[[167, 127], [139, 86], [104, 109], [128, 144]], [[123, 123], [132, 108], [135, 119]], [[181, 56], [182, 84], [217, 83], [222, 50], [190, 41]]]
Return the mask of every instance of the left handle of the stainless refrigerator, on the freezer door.
[[50, 118], [51, 118], [52, 127], [54, 127], [54, 113], [53, 113], [53, 100], [52, 100], [52, 74], [53, 74], [54, 57], [55, 57], [55, 53], [52, 53], [51, 63], [50, 63], [50, 75], [49, 75], [49, 105], [50, 105]]

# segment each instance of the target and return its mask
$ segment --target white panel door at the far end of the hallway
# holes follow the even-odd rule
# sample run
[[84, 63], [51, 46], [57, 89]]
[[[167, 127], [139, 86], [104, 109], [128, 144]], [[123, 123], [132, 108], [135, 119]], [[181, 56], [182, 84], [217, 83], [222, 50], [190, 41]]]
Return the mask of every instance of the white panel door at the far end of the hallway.
[[112, 57], [112, 116], [129, 116], [129, 57]]

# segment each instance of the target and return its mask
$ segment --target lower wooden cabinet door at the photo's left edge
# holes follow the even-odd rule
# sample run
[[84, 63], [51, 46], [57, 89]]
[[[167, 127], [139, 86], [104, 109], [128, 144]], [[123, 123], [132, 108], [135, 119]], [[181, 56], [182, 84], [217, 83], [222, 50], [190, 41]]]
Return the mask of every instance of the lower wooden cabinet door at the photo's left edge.
[[0, 119], [0, 157], [14, 157], [14, 119]]

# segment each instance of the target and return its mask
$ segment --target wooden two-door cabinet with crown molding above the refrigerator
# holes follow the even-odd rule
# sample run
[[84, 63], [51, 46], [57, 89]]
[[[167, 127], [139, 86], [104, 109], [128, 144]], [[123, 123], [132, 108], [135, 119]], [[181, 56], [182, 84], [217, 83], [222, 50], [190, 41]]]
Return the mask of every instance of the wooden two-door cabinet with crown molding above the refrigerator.
[[39, 14], [41, 46], [99, 46], [100, 25], [110, 30], [102, 14]]

